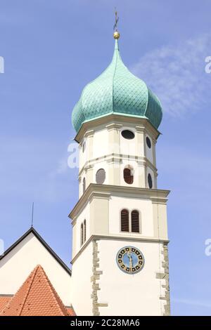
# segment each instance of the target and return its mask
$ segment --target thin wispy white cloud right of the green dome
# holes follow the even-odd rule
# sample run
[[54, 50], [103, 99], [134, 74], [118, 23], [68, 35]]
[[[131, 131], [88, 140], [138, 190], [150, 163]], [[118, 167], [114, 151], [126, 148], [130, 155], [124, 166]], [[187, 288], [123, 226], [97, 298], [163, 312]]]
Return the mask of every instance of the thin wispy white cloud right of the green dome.
[[158, 95], [165, 112], [183, 117], [203, 111], [206, 104], [211, 82], [211, 74], [205, 73], [208, 55], [211, 35], [205, 34], [146, 53], [131, 70]]

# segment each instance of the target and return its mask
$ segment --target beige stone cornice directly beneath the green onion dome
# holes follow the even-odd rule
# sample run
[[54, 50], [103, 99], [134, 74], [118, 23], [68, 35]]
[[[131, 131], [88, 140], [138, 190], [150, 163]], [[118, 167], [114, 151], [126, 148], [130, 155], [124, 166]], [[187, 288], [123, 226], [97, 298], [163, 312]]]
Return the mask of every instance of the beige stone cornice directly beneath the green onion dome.
[[98, 126], [99, 128], [105, 128], [105, 126], [109, 127], [111, 125], [112, 128], [112, 125], [115, 125], [113, 128], [117, 128], [118, 126], [120, 127], [120, 125], [129, 126], [129, 124], [135, 124], [138, 131], [145, 131], [146, 129], [147, 131], [152, 133], [155, 139], [157, 139], [160, 135], [160, 132], [151, 124], [150, 121], [148, 121], [148, 119], [126, 115], [122, 116], [121, 114], [108, 114], [106, 116], [84, 122], [84, 124], [82, 124], [82, 127], [79, 129], [79, 132], [75, 136], [75, 141], [77, 143], [80, 143], [84, 134], [87, 131], [90, 131], [93, 128], [96, 129], [98, 128]]

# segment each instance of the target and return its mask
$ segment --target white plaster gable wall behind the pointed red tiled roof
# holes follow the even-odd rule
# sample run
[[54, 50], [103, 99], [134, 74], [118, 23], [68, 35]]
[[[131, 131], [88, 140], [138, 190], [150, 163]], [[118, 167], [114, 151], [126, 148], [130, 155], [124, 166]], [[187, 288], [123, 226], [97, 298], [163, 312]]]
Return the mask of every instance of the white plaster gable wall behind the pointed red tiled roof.
[[70, 305], [71, 277], [32, 233], [0, 260], [0, 293], [14, 294], [41, 265], [63, 303]]

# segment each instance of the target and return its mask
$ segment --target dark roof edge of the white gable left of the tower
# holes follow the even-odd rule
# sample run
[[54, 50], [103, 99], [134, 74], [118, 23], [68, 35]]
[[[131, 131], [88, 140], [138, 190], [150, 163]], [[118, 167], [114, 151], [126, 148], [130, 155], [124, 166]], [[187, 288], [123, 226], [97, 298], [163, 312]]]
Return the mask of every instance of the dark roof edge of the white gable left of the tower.
[[30, 234], [33, 234], [35, 237], [37, 237], [37, 239], [39, 240], [39, 242], [46, 248], [46, 250], [49, 251], [49, 253], [51, 253], [51, 256], [53, 256], [53, 258], [55, 258], [58, 263], [63, 267], [64, 270], [66, 270], [66, 272], [68, 272], [69, 275], [71, 275], [71, 270], [70, 268], [68, 268], [68, 266], [63, 262], [63, 260], [61, 260], [59, 258], [59, 256], [51, 249], [51, 246], [49, 246], [49, 244], [47, 244], [44, 239], [38, 234], [37, 230], [34, 229], [34, 227], [31, 227], [29, 230], [27, 230], [27, 232], [25, 232], [25, 234], [23, 234], [23, 236], [21, 236], [15, 243], [13, 243], [5, 252], [2, 256], [0, 256], [0, 260], [2, 260], [8, 253], [10, 253], [15, 246], [17, 246], [20, 242], [23, 241], [23, 239], [25, 239], [25, 237], [27, 237]]

